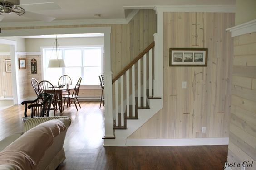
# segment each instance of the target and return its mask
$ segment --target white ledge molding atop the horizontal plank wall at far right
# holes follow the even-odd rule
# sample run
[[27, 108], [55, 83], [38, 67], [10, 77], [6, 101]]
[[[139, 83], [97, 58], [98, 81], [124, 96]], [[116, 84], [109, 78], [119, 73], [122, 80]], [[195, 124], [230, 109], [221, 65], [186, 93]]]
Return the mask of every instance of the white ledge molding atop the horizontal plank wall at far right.
[[243, 35], [246, 33], [256, 32], [256, 19], [251, 20], [246, 23], [243, 23], [243, 24], [240, 24], [240, 25], [236, 25], [231, 28], [227, 28], [226, 31], [230, 31], [232, 37], [236, 37], [236, 36]]

